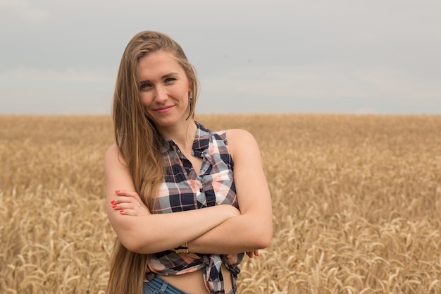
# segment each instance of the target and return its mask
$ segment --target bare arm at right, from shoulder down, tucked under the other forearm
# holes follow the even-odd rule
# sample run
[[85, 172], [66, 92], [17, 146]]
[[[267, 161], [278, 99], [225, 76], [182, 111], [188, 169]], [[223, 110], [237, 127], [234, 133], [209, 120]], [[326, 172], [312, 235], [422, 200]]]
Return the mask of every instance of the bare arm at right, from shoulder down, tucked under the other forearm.
[[269, 245], [273, 234], [271, 195], [254, 137], [228, 130], [240, 216], [221, 223], [189, 243], [190, 252], [228, 254], [253, 252]]

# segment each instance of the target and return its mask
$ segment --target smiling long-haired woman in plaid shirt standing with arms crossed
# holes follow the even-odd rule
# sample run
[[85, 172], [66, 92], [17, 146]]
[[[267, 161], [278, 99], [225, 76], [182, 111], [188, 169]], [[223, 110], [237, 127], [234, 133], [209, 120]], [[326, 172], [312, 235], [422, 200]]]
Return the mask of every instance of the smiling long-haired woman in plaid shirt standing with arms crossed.
[[244, 130], [194, 121], [197, 89], [173, 39], [147, 31], [130, 40], [105, 158], [118, 235], [108, 293], [235, 293], [244, 252], [259, 255], [271, 240], [259, 147]]

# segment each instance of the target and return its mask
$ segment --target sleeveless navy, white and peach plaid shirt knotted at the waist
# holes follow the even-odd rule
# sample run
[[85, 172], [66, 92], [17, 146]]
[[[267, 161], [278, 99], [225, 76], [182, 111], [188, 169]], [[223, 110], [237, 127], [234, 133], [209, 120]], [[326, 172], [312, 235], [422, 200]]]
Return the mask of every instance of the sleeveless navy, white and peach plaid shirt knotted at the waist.
[[[159, 188], [153, 213], [165, 214], [201, 209], [218, 204], [231, 204], [236, 208], [237, 197], [233, 181], [233, 162], [228, 152], [225, 130], [212, 132], [197, 123], [197, 133], [193, 142], [194, 157], [203, 159], [199, 175], [191, 162], [182, 154], [173, 140], [166, 140], [164, 159], [166, 178]], [[206, 288], [213, 294], [224, 294], [221, 264], [230, 270], [236, 289], [237, 267], [244, 253], [234, 255], [176, 254], [163, 251], [151, 255], [147, 281], [154, 274], [178, 275], [203, 269]]]

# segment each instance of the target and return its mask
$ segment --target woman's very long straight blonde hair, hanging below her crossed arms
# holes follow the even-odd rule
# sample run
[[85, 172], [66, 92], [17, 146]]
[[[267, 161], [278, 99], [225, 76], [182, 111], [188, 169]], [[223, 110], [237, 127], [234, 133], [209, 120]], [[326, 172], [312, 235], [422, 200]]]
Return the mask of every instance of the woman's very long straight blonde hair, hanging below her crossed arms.
[[[137, 65], [139, 59], [156, 51], [166, 51], [182, 66], [192, 85], [192, 103], [188, 117], [194, 118], [197, 78], [184, 51], [173, 39], [160, 32], [139, 32], [132, 37], [121, 58], [113, 94], [113, 124], [116, 145], [132, 175], [135, 190], [151, 210], [153, 195], [163, 182], [163, 138], [147, 118], [139, 101]], [[127, 250], [116, 240], [106, 293], [142, 294], [142, 281], [148, 255]]]

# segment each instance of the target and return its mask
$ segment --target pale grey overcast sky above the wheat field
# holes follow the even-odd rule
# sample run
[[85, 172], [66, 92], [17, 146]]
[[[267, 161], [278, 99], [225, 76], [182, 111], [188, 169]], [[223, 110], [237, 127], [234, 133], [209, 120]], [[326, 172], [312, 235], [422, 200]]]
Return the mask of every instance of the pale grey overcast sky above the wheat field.
[[109, 114], [142, 30], [197, 69], [197, 112], [441, 114], [440, 0], [0, 0], [0, 114]]

